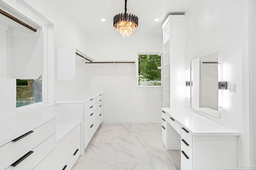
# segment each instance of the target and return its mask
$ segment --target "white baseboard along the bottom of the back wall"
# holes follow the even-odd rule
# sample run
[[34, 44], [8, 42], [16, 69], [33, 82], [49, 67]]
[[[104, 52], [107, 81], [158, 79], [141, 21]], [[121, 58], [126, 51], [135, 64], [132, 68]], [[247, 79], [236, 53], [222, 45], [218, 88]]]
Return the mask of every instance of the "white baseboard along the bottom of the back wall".
[[104, 123], [160, 123], [161, 118], [104, 118]]

